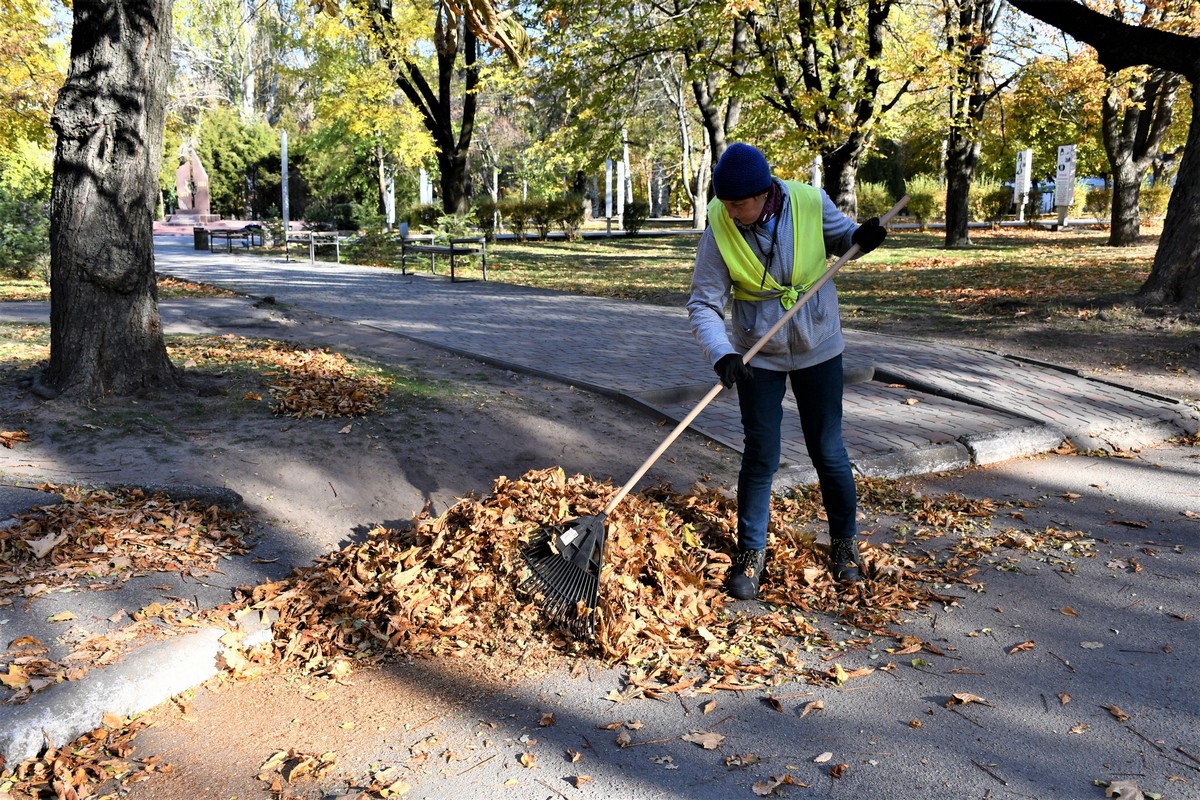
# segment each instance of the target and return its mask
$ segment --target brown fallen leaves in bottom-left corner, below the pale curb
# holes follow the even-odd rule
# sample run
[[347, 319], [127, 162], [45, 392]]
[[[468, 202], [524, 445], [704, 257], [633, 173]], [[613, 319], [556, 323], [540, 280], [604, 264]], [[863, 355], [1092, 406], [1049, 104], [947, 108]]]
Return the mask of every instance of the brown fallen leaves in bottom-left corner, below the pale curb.
[[143, 722], [106, 714], [100, 728], [67, 747], [52, 745], [37, 758], [22, 762], [11, 771], [5, 770], [0, 758], [0, 798], [94, 798], [101, 787], [127, 786], [155, 772], [169, 772], [170, 766], [161, 764], [156, 756], [133, 757], [133, 740], [144, 727]]

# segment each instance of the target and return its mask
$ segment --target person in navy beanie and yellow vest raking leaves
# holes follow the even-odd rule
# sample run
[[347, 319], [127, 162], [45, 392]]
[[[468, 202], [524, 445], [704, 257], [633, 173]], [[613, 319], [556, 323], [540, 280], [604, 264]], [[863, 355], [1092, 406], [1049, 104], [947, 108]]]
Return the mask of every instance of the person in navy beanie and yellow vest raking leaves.
[[833, 281], [749, 363], [743, 363], [743, 354], [822, 276], [828, 257], [842, 255], [853, 245], [869, 253], [887, 229], [877, 217], [857, 224], [823, 190], [774, 178], [766, 156], [744, 143], [721, 155], [713, 169], [713, 190], [716, 197], [696, 251], [688, 318], [721, 384], [738, 387], [742, 410], [738, 553], [726, 591], [738, 600], [758, 596], [788, 381], [829, 521], [830, 571], [839, 583], [859, 582], [858, 497], [841, 434], [845, 341]]

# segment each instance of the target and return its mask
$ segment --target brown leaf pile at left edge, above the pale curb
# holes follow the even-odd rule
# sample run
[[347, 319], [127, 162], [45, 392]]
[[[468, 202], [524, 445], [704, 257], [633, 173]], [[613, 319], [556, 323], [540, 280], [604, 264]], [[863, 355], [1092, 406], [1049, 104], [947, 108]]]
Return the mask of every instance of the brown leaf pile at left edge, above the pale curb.
[[140, 489], [42, 489], [62, 501], [0, 527], [0, 606], [149, 572], [204, 576], [246, 549], [244, 513]]

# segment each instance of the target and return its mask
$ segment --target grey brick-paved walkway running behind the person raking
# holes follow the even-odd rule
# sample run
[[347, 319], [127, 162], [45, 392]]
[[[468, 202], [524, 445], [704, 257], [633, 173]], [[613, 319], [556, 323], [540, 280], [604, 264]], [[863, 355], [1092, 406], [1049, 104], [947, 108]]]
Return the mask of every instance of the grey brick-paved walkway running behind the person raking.
[[[683, 308], [197, 252], [191, 240], [168, 236], [156, 240], [156, 253], [168, 275], [274, 296], [676, 420], [715, 384]], [[1200, 414], [1171, 398], [984, 350], [850, 331], [845, 360], [846, 444], [868, 475], [986, 464], [1045, 452], [1064, 438], [1086, 450], [1138, 447], [1200, 427]], [[740, 449], [736, 395], [718, 395], [692, 427]], [[785, 415], [784, 438], [780, 482], [811, 481], [794, 414]]]

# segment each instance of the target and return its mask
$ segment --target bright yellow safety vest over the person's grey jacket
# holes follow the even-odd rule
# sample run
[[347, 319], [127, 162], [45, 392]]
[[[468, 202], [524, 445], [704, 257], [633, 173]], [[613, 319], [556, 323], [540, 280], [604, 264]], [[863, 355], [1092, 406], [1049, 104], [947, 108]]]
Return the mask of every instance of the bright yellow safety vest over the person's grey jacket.
[[[769, 300], [779, 297], [784, 308], [791, 308], [802, 291], [824, 273], [826, 252], [822, 230], [821, 191], [800, 184], [785, 181], [787, 201], [792, 207], [792, 285], [784, 287], [767, 275], [758, 257], [750, 249], [742, 231], [725, 210], [720, 199], [708, 204], [708, 218], [713, 225], [716, 247], [721, 251], [725, 266], [733, 279], [733, 296], [738, 300]], [[776, 223], [778, 224], [778, 223]]]

